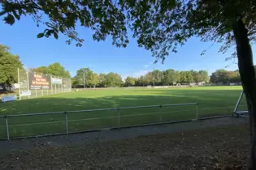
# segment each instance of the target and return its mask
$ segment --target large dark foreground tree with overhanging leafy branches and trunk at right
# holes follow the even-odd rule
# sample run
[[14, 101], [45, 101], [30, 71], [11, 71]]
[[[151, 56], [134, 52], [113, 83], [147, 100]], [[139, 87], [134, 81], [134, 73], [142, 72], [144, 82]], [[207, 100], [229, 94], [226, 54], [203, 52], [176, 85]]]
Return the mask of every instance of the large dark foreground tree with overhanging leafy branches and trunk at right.
[[22, 15], [33, 15], [40, 23], [41, 12], [48, 16], [45, 32], [38, 37], [58, 33], [67, 35], [81, 45], [75, 31], [76, 23], [92, 28], [94, 40], [111, 35], [113, 44], [128, 44], [127, 26], [132, 28], [140, 47], [164, 59], [177, 52], [178, 45], [192, 36], [202, 41], [223, 43], [220, 52], [236, 47], [232, 57], [238, 58], [241, 83], [245, 91], [251, 127], [249, 169], [256, 169], [256, 79], [250, 43], [256, 40], [256, 1], [254, 0], [140, 0], [140, 1], [2, 1], [0, 16], [9, 24]]

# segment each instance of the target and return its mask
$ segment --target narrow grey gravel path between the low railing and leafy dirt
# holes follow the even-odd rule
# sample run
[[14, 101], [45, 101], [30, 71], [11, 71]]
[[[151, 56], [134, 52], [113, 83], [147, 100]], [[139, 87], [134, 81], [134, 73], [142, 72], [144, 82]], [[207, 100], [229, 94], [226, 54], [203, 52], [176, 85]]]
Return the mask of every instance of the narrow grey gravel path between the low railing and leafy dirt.
[[15, 139], [0, 141], [0, 151], [33, 150], [38, 147], [71, 147], [93, 142], [107, 142], [152, 134], [173, 134], [187, 130], [199, 130], [225, 125], [243, 125], [247, 118], [224, 117], [204, 121], [189, 121], [167, 125], [150, 125], [121, 130], [102, 130], [83, 134], [69, 134], [45, 138]]

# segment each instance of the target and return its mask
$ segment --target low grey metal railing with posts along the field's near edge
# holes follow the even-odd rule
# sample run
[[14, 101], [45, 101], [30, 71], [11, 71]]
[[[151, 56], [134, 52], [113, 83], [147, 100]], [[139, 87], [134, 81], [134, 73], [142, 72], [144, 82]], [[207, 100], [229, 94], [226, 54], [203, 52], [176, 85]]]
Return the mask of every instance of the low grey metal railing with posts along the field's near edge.
[[[117, 123], [114, 127], [111, 127], [109, 129], [120, 129], [120, 128], [124, 128], [124, 126], [120, 125], [120, 117], [129, 117], [129, 116], [146, 116], [146, 115], [150, 115], [150, 114], [155, 114], [155, 113], [141, 113], [141, 114], [135, 114], [135, 115], [120, 115], [120, 111], [121, 110], [127, 110], [127, 109], [136, 109], [136, 108], [167, 108], [167, 107], [175, 107], [175, 106], [191, 106], [191, 105], [195, 105], [195, 115], [193, 115], [193, 118], [190, 119], [185, 119], [185, 120], [177, 120], [177, 121], [193, 121], [193, 120], [197, 120], [198, 119], [198, 103], [186, 103], [186, 104], [160, 104], [160, 105], [144, 105], [144, 106], [134, 106], [134, 107], [120, 107], [120, 108], [98, 108], [98, 109], [86, 109], [86, 110], [76, 110], [76, 111], [63, 111], [63, 112], [50, 112], [50, 113], [28, 113], [28, 114], [11, 114], [11, 115], [0, 115], [0, 119], [4, 118], [5, 119], [5, 128], [6, 128], [6, 134], [7, 134], [7, 140], [9, 140], [11, 138], [10, 133], [9, 133], [9, 118], [11, 117], [36, 117], [36, 116], [42, 116], [42, 115], [59, 115], [59, 114], [64, 114], [64, 123], [65, 123], [65, 133], [59, 133], [59, 134], [72, 134], [74, 132], [70, 132], [69, 127], [68, 127], [68, 115], [72, 115], [75, 113], [93, 113], [93, 112], [99, 112], [99, 111], [116, 111], [117, 114], [115, 116], [111, 116], [111, 117], [96, 117], [96, 118], [87, 118], [87, 119], [83, 119], [83, 120], [97, 120], [97, 119], [102, 119], [102, 118], [117, 118]], [[181, 111], [182, 112], [182, 111]], [[190, 111], [189, 111], [190, 112]], [[192, 112], [192, 111], [191, 111]], [[61, 117], [58, 117], [59, 119]], [[142, 123], [140, 125], [126, 125], [125, 127], [133, 127], [133, 126], [141, 126], [141, 125], [157, 125], [157, 124], [164, 124], [164, 123], [171, 123], [173, 121], [163, 121], [162, 117], [161, 117], [161, 122], [157, 123], [157, 122], [153, 122], [150, 124], [145, 124]], [[70, 121], [74, 121], [74, 120], [70, 120]], [[79, 120], [75, 120], [75, 121], [79, 121]], [[176, 121], [176, 122], [177, 122]], [[61, 122], [61, 121], [59, 121]], [[47, 122], [39, 122], [41, 124], [43, 123], [47, 123]], [[37, 123], [35, 123], [37, 124]], [[22, 124], [21, 124], [22, 125]], [[33, 123], [31, 124], [33, 125]], [[106, 129], [106, 128], [105, 128]], [[98, 129], [98, 130], [105, 130], [105, 129]], [[85, 131], [92, 131], [92, 130], [82, 130], [80, 132], [85, 132]], [[48, 136], [48, 135], [57, 135], [57, 134], [44, 134], [44, 135], [33, 135], [33, 136], [29, 136], [29, 137], [38, 137], [38, 136]], [[22, 136], [19, 138], [28, 138], [28, 136]]]

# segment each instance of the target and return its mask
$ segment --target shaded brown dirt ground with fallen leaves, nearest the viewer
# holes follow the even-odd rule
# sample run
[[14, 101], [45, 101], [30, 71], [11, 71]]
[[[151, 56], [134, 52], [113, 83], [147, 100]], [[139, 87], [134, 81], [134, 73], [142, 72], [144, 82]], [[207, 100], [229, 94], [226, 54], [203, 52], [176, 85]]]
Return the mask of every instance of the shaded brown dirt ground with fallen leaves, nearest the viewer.
[[0, 169], [245, 169], [246, 125], [0, 155]]

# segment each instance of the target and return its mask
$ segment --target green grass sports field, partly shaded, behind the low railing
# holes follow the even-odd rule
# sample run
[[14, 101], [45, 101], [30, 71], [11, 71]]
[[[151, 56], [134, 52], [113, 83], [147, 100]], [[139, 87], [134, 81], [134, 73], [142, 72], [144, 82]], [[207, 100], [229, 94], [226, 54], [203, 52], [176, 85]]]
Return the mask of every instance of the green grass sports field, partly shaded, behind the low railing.
[[[199, 117], [232, 113], [241, 87], [117, 88], [74, 91], [31, 100], [0, 104], [0, 115], [118, 108], [151, 104], [198, 102]], [[246, 110], [242, 100], [240, 110]], [[177, 121], [196, 117], [196, 105], [120, 110], [120, 126]], [[69, 113], [70, 132], [110, 128], [118, 125], [117, 111]], [[102, 118], [100, 118], [102, 117]], [[9, 117], [11, 137], [65, 133], [65, 115]], [[0, 117], [0, 138], [6, 138], [6, 122]]]

